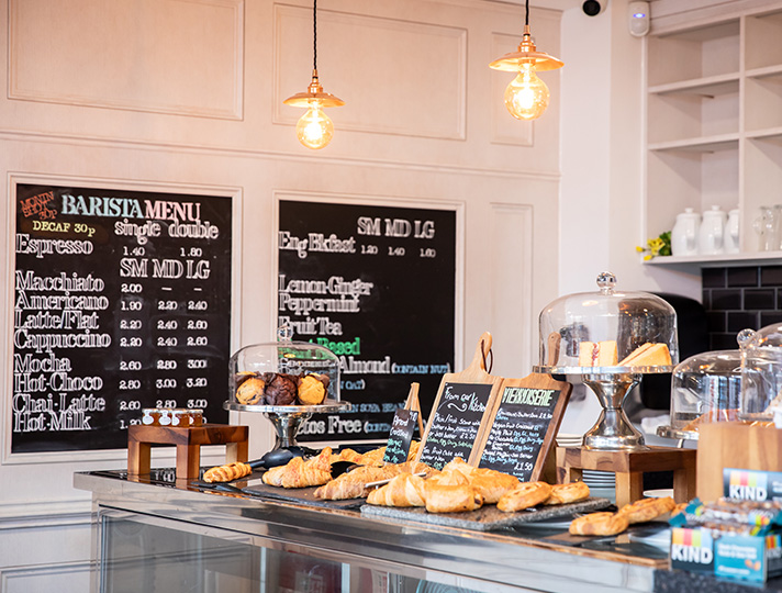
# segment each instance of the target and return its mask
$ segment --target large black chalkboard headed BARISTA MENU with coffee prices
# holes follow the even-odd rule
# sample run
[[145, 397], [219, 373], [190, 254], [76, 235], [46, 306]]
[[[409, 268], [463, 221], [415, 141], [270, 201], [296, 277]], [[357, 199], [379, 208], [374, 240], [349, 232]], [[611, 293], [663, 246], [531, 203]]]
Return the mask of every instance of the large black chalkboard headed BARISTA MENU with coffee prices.
[[123, 448], [143, 407], [225, 422], [231, 198], [16, 186], [12, 452]]

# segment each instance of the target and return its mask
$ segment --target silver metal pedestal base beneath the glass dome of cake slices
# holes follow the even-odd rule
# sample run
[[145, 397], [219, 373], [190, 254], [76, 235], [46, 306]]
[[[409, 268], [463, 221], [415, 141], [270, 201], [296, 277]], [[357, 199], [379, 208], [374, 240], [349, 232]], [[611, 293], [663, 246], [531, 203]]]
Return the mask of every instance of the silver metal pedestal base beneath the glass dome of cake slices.
[[630, 423], [622, 407], [625, 398], [643, 374], [671, 372], [673, 366], [656, 367], [534, 367], [535, 372], [581, 377], [581, 382], [597, 396], [603, 410], [592, 428], [584, 435], [588, 449], [643, 450], [648, 449], [644, 435]]

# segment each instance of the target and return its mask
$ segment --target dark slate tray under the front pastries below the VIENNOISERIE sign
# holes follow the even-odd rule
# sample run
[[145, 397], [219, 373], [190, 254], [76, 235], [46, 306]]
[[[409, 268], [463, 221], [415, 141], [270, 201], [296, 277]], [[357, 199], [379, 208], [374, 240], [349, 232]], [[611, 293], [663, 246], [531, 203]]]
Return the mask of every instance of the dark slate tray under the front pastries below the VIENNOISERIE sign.
[[506, 529], [517, 527], [525, 523], [565, 517], [576, 513], [592, 513], [600, 511], [613, 503], [608, 499], [586, 499], [585, 501], [559, 504], [556, 506], [541, 506], [533, 511], [521, 511], [518, 513], [503, 513], [495, 505], [487, 505], [478, 511], [467, 513], [427, 513], [425, 508], [395, 508], [391, 506], [375, 506], [365, 504], [361, 507], [362, 515], [388, 517], [402, 521], [428, 523], [432, 525], [443, 525], [446, 527], [458, 527], [460, 529], [472, 529], [476, 532], [492, 532], [495, 529]]

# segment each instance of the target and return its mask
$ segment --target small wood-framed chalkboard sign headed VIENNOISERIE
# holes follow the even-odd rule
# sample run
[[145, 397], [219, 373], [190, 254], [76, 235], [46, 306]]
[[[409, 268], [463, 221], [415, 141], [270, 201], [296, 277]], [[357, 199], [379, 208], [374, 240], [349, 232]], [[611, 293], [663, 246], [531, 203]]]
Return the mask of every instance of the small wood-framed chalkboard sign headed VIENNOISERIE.
[[539, 480], [571, 389], [548, 374], [505, 379], [478, 447], [479, 467]]

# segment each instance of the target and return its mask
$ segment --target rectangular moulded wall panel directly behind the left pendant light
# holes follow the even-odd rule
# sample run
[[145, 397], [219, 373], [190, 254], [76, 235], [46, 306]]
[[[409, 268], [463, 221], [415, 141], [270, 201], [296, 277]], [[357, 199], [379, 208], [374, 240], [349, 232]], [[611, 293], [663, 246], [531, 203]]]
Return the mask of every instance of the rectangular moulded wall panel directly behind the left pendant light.
[[[275, 121], [295, 124], [282, 101], [310, 83], [312, 11], [275, 9]], [[317, 23], [321, 83], [348, 103], [328, 110], [340, 130], [465, 138], [465, 29], [320, 9]]]

